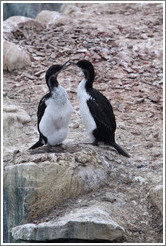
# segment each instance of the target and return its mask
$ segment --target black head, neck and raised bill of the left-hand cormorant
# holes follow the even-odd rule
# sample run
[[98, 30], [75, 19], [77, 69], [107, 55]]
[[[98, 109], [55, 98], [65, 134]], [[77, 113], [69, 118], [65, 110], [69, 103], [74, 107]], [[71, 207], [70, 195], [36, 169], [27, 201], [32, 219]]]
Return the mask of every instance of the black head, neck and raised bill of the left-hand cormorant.
[[52, 91], [53, 88], [58, 86], [57, 76], [62, 70], [64, 70], [66, 67], [68, 67], [68, 65], [70, 65], [68, 63], [69, 61], [65, 62], [63, 65], [60, 64], [52, 65], [47, 70], [45, 79], [50, 91]]

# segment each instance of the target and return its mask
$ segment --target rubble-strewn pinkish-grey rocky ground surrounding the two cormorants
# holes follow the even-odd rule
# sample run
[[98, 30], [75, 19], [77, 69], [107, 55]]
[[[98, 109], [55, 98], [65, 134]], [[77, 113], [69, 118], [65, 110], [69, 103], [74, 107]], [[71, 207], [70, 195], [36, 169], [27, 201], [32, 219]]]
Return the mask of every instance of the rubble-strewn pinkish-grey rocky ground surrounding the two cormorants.
[[[55, 220], [57, 214], [77, 209], [80, 200], [86, 206], [104, 202], [125, 228], [120, 242], [162, 242], [162, 11], [160, 3], [65, 4], [54, 21], [49, 15], [43, 21], [41, 15], [40, 22], [23, 22], [4, 34], [31, 59], [29, 66], [4, 71], [4, 166], [19, 164], [20, 158], [22, 162], [38, 159], [37, 163], [40, 155], [44, 158], [49, 152], [73, 154], [85, 149], [99, 155], [107, 167], [106, 182], [59, 206], [50, 205], [45, 215], [30, 216], [28, 223]], [[45, 71], [68, 59], [93, 63], [94, 87], [110, 100], [117, 120], [117, 143], [131, 158], [107, 146], [86, 144], [89, 139], [76, 96], [82, 74], [73, 67], [59, 76], [74, 109], [64, 148], [28, 151], [38, 139], [36, 112], [47, 92]]]

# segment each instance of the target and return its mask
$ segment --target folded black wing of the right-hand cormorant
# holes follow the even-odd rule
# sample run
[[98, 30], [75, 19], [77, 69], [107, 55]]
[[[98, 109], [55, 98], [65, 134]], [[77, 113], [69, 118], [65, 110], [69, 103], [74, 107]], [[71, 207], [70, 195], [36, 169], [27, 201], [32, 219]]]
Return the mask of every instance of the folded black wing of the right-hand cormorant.
[[110, 127], [112, 131], [115, 132], [115, 115], [108, 99], [93, 88], [89, 91], [89, 94], [91, 96], [89, 102], [91, 103], [89, 103], [88, 106], [91, 108], [90, 110], [93, 110], [93, 114], [95, 114], [96, 119], [99, 121], [102, 119], [103, 124], [107, 125], [107, 127]]

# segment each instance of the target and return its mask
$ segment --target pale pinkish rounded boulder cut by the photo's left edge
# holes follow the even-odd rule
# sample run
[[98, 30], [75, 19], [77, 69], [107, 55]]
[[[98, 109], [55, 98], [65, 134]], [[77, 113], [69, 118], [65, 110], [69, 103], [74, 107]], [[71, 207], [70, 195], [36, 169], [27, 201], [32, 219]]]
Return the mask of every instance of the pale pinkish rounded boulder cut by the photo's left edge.
[[31, 58], [27, 51], [19, 45], [3, 40], [3, 69], [9, 72], [27, 67], [31, 64]]

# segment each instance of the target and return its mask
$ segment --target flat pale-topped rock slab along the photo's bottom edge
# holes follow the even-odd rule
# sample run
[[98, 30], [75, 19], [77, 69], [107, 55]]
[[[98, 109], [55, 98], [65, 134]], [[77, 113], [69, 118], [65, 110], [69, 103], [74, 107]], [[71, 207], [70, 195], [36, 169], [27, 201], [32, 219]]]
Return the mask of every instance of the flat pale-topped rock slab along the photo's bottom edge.
[[[43, 233], [46, 232], [46, 233]], [[124, 235], [124, 228], [116, 223], [102, 207], [90, 206], [72, 210], [57, 220], [24, 224], [12, 229], [13, 237], [25, 241], [63, 239], [116, 240]]]

